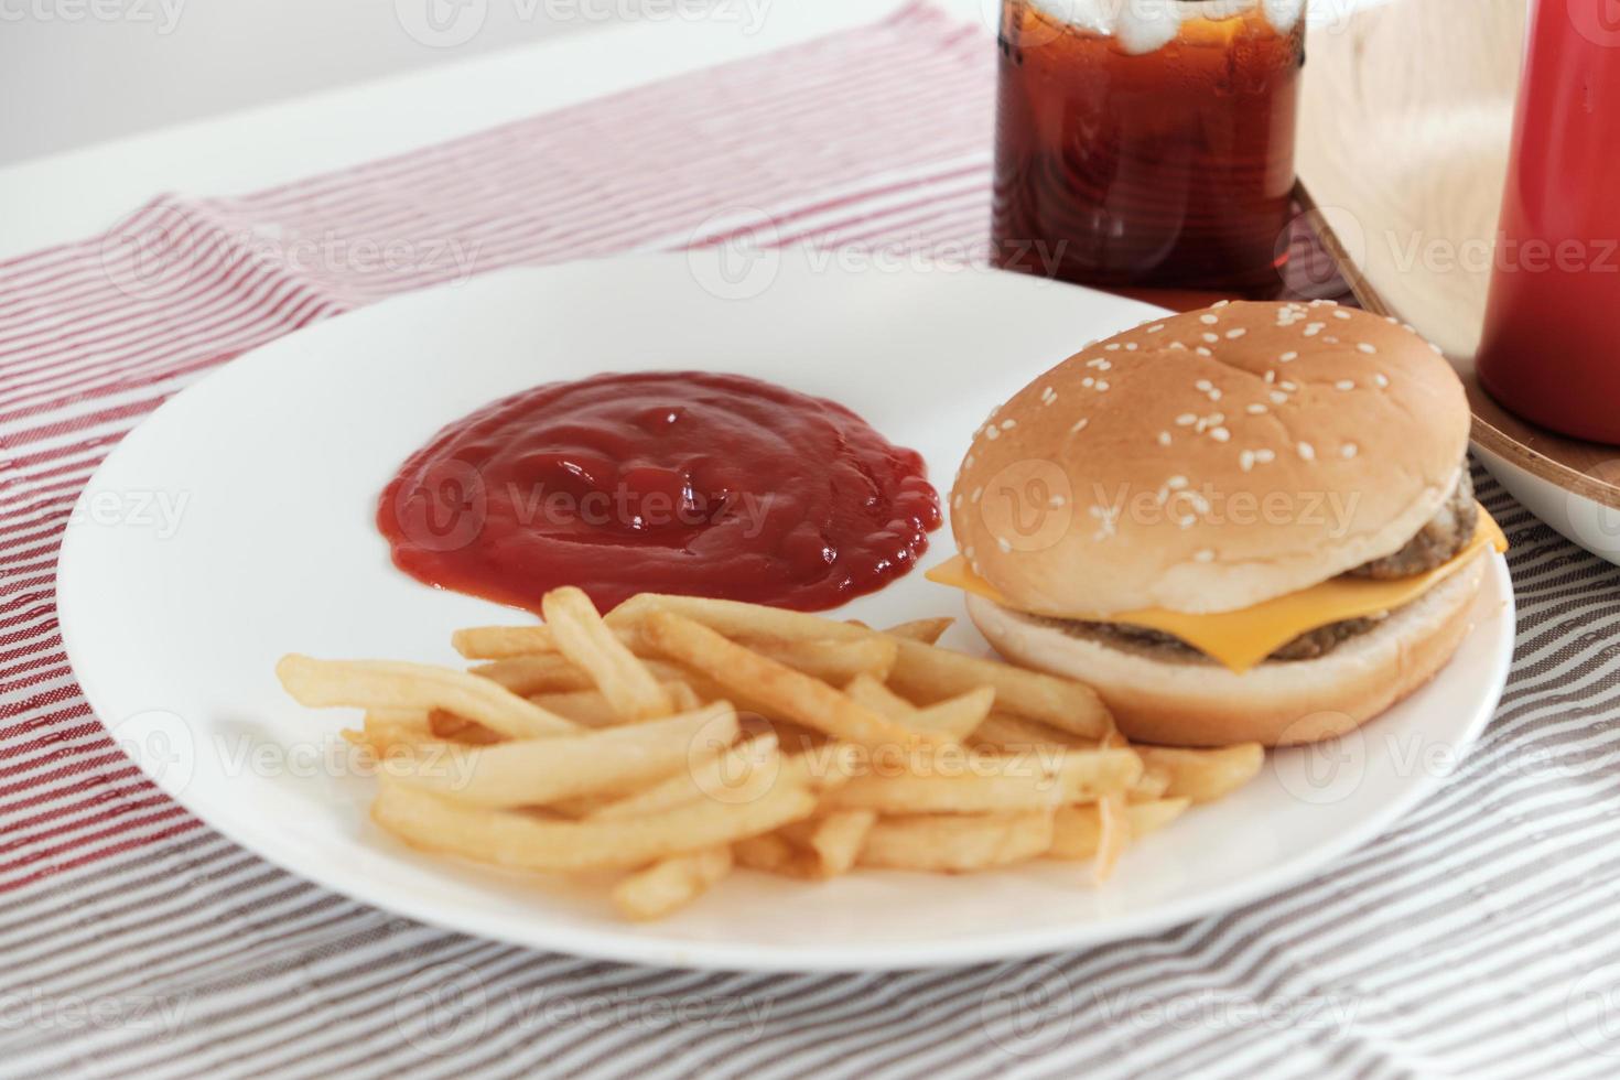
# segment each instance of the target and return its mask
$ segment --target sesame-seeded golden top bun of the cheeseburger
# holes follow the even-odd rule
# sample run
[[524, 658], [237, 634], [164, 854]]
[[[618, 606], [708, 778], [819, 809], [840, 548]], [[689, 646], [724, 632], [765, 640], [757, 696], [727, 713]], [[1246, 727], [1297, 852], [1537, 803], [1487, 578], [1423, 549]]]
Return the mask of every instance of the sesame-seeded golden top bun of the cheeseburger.
[[1218, 304], [1090, 345], [993, 410], [951, 528], [1022, 610], [1236, 610], [1400, 551], [1468, 431], [1461, 382], [1409, 327]]

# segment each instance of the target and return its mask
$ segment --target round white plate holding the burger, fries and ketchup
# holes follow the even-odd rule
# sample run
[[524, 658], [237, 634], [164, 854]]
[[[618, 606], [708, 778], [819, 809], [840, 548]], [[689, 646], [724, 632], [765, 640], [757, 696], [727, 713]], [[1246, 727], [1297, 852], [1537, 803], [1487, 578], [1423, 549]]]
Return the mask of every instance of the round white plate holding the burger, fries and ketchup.
[[[355, 899], [541, 949], [758, 970], [1004, 959], [1264, 897], [1388, 827], [1490, 717], [1513, 641], [1500, 559], [1474, 633], [1430, 687], [1325, 751], [1277, 755], [1239, 795], [1147, 837], [1100, 889], [1056, 863], [818, 887], [739, 873], [676, 918], [629, 926], [601, 882], [395, 844], [366, 819], [369, 780], [326, 761], [353, 717], [296, 708], [272, 667], [288, 651], [455, 662], [452, 628], [525, 619], [395, 572], [373, 528], [377, 491], [439, 426], [603, 369], [739, 371], [846, 402], [948, 484], [991, 403], [1152, 314], [983, 270], [718, 257], [510, 270], [402, 296], [256, 350], [164, 405], [96, 473], [62, 547], [62, 631], [97, 716], [211, 826]], [[936, 536], [928, 562], [949, 554]], [[847, 609], [876, 623], [938, 612], [959, 614], [961, 597], [920, 575]]]

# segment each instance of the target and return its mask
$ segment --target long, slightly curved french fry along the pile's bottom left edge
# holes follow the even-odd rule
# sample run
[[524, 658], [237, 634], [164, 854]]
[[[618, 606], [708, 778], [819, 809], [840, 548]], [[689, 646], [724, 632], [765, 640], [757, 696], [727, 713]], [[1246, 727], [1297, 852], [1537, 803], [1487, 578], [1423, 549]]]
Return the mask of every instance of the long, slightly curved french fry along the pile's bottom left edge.
[[635, 870], [779, 829], [808, 818], [816, 803], [802, 787], [778, 787], [737, 805], [698, 801], [653, 818], [546, 821], [467, 806], [387, 776], [379, 779], [371, 818], [405, 844], [528, 871]]

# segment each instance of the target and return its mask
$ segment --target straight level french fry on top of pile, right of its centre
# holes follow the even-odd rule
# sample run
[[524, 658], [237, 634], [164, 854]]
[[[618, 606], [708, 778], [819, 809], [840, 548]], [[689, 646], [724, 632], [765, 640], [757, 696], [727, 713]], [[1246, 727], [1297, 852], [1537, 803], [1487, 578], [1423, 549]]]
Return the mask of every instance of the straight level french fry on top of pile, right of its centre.
[[1055, 767], [1034, 758], [980, 758], [972, 771], [857, 776], [823, 795], [821, 805], [888, 814], [1053, 810], [1124, 792], [1140, 771], [1131, 750], [1071, 751]]

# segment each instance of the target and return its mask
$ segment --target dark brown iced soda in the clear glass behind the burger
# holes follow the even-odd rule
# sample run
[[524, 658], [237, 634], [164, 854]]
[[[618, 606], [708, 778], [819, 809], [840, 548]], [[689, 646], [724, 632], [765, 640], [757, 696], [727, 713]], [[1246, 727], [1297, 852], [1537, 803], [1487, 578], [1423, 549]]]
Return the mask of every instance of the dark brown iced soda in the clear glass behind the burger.
[[1304, 29], [1260, 5], [1142, 55], [1006, 0], [993, 243], [1008, 269], [1264, 298], [1281, 285]]

